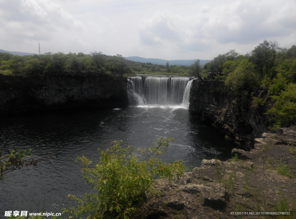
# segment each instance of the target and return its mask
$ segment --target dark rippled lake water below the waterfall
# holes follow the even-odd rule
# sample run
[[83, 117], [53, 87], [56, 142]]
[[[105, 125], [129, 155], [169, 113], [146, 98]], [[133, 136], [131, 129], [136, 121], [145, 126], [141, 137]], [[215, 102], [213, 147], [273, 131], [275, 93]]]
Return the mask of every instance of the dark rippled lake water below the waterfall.
[[85, 155], [98, 160], [97, 148], [109, 148], [111, 140], [139, 148], [149, 147], [157, 137], [172, 136], [175, 141], [161, 159], [183, 160], [188, 168], [199, 167], [202, 159], [215, 156], [228, 159], [233, 146], [213, 126], [180, 106], [63, 109], [4, 115], [0, 121], [2, 152], [15, 146], [31, 148], [33, 158], [54, 154], [48, 161], [8, 173], [0, 181], [0, 218], [4, 211], [60, 212], [71, 207], [68, 194], [91, 191], [75, 158]]

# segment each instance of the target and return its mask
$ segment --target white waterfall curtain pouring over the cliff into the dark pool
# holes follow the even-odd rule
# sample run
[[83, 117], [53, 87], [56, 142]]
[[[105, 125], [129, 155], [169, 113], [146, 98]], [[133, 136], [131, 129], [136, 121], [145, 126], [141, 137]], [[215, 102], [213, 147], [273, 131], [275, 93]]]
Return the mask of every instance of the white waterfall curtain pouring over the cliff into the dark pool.
[[188, 108], [191, 83], [190, 78], [181, 77], [128, 77], [129, 105], [173, 105]]

